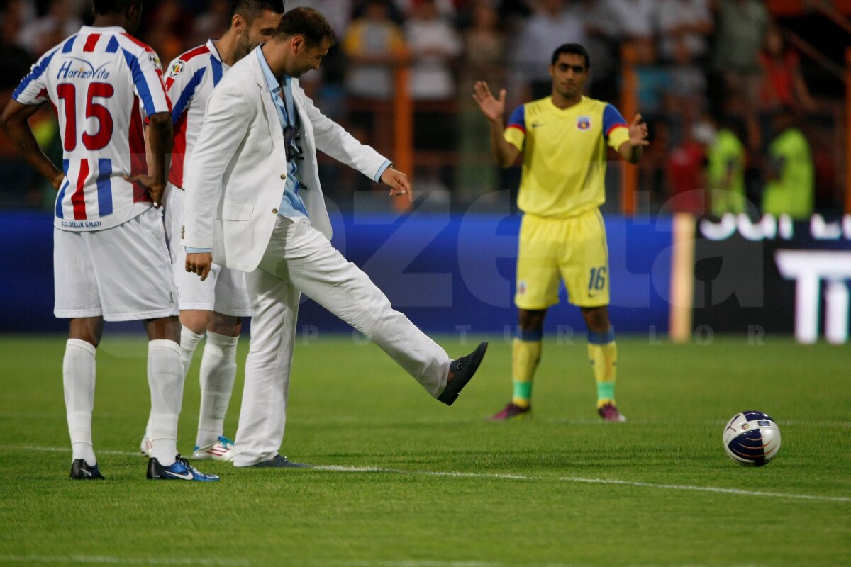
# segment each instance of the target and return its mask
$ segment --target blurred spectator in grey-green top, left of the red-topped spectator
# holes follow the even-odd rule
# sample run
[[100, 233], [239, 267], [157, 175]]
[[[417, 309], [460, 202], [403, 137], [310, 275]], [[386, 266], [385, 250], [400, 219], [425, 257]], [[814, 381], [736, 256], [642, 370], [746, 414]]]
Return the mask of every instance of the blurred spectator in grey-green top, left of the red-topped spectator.
[[759, 53], [770, 24], [768, 9], [760, 0], [719, 0], [715, 66], [723, 77], [723, 98], [742, 99], [757, 108], [762, 70]]

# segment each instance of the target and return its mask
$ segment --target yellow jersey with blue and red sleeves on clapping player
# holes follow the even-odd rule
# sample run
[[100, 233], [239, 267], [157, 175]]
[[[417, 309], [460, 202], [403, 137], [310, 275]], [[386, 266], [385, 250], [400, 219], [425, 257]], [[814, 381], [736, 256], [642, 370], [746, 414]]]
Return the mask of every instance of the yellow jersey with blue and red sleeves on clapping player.
[[606, 144], [629, 141], [618, 109], [583, 96], [564, 110], [552, 97], [520, 105], [505, 127], [505, 140], [523, 152], [517, 206], [539, 217], [569, 218], [606, 201]]

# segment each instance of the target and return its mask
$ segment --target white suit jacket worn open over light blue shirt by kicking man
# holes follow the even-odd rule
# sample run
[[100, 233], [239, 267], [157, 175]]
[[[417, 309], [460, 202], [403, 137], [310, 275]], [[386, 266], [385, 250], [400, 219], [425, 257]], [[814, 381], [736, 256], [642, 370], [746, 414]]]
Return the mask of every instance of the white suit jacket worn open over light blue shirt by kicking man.
[[[212, 248], [216, 264], [247, 272], [266, 252], [287, 179], [281, 122], [257, 55], [233, 65], [207, 101], [186, 165], [183, 208], [183, 246]], [[298, 80], [292, 89], [305, 158], [299, 163], [299, 196], [313, 227], [330, 239], [317, 150], [370, 179], [387, 160], [318, 111]]]

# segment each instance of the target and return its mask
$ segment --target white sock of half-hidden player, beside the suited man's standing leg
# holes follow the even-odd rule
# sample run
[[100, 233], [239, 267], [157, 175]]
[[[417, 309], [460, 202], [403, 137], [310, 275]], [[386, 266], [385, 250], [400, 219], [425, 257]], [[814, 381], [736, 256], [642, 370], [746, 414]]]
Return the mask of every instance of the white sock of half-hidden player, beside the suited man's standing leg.
[[237, 378], [238, 341], [239, 337], [207, 332], [201, 358], [201, 412], [195, 440], [199, 447], [214, 443], [224, 432], [227, 405]]

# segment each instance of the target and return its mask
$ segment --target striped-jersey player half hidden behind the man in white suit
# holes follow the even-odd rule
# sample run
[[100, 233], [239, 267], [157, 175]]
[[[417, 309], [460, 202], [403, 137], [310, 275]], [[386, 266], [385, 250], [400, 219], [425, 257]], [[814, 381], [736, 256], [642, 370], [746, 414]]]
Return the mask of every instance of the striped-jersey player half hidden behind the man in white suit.
[[[198, 343], [207, 334], [201, 359], [201, 411], [193, 459], [230, 461], [233, 443], [224, 435], [227, 405], [237, 377], [241, 317], [251, 315], [245, 272], [213, 266], [205, 281], [186, 272], [180, 246], [183, 225], [183, 166], [195, 145], [207, 99], [231, 65], [270, 38], [283, 16], [283, 0], [234, 0], [231, 26], [217, 40], [181, 54], [168, 65], [166, 89], [172, 100], [174, 149], [165, 198], [165, 229], [180, 305], [180, 357], [189, 370]], [[148, 421], [141, 450], [150, 451]]]

